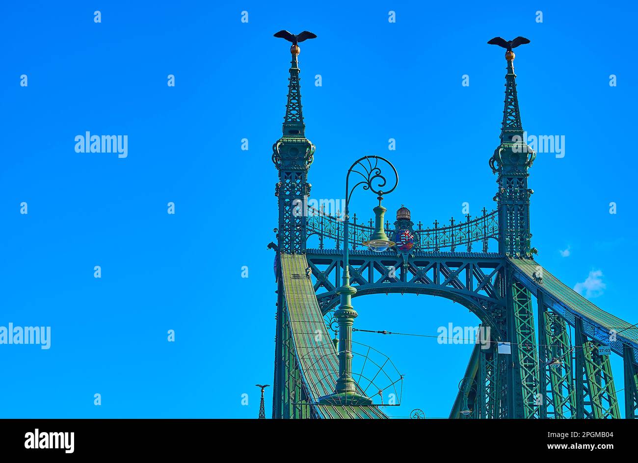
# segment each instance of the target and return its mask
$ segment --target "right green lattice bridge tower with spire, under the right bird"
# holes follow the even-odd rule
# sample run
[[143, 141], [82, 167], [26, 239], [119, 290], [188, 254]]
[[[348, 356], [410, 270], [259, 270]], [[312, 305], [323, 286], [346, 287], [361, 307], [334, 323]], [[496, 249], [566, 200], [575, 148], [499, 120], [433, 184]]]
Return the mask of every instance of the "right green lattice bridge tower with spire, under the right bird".
[[[498, 251], [514, 259], [532, 258], [530, 246], [530, 196], [528, 169], [536, 153], [524, 139], [521, 112], [516, 92], [514, 52], [507, 50], [505, 75], [505, 108], [501, 124], [500, 145], [494, 150], [489, 165], [496, 173], [500, 240]], [[514, 281], [509, 267], [505, 271], [507, 299], [507, 331], [512, 362], [507, 365], [507, 409], [510, 418], [532, 418], [538, 415], [538, 353], [535, 348], [534, 313], [531, 293]]]

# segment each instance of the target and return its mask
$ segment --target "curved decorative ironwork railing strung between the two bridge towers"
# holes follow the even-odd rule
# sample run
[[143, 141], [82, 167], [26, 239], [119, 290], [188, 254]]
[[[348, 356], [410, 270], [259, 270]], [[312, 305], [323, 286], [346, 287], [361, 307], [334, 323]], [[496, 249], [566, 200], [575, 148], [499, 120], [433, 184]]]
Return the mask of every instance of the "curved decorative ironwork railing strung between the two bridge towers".
[[[414, 251], [451, 251], [454, 252], [458, 247], [465, 249], [468, 253], [472, 251], [475, 245], [480, 246], [480, 250], [487, 252], [489, 240], [498, 240], [498, 210], [487, 212], [483, 209], [482, 215], [471, 218], [470, 214], [466, 216], [465, 221], [455, 223], [454, 219], [450, 219], [450, 224], [440, 226], [438, 221], [434, 221], [433, 227], [423, 228], [422, 223], [418, 223], [414, 227]], [[335, 249], [341, 249], [343, 243], [343, 214], [337, 212], [334, 215], [325, 214], [323, 207], [318, 210], [314, 207], [307, 208], [308, 222], [307, 238], [317, 235], [319, 239], [319, 249], [325, 249], [325, 240], [334, 241]], [[350, 219], [350, 249], [364, 247], [361, 243], [369, 239], [374, 231], [373, 220], [370, 219], [364, 223], [357, 222], [357, 214]], [[392, 233], [390, 222], [385, 223], [385, 233], [388, 236]]]

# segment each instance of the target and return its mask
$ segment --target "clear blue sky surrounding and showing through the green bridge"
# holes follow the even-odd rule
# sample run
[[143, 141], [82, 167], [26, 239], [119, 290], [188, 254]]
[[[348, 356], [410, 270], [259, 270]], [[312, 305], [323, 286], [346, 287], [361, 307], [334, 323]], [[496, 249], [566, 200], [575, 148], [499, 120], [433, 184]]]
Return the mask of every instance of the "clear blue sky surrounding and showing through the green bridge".
[[[637, 225], [635, 15], [629, 2], [4, 4], [0, 325], [50, 326], [52, 340], [48, 350], [0, 346], [0, 416], [257, 415], [254, 385], [273, 374], [271, 147], [290, 62], [288, 45], [272, 38], [279, 29], [318, 35], [299, 57], [317, 147], [313, 195], [340, 198], [353, 160], [387, 156], [400, 175], [389, 217], [404, 203], [426, 224], [460, 217], [463, 202], [473, 215], [494, 207], [487, 161], [505, 59], [486, 41], [530, 38], [515, 61], [523, 126], [566, 138], [564, 158], [539, 154], [531, 168], [538, 261], [572, 287], [600, 270], [595, 304], [638, 321], [625, 257]], [[128, 158], [75, 152], [85, 131], [128, 135]], [[368, 217], [373, 205], [359, 191], [351, 209]], [[355, 308], [357, 326], [374, 330], [436, 335], [449, 322], [478, 323], [433, 297], [362, 297]], [[355, 340], [406, 376], [390, 415], [448, 415], [471, 346]], [[618, 388], [621, 366], [614, 360]], [[271, 399], [269, 390], [267, 409]]]

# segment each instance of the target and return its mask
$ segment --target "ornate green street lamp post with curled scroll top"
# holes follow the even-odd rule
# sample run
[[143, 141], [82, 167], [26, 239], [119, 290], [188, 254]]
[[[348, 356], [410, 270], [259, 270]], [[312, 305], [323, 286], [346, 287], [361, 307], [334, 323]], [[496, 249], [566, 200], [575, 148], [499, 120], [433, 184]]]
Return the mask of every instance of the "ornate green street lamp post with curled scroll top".
[[[394, 186], [387, 186], [387, 180], [381, 173], [379, 163], [385, 163], [392, 168]], [[357, 173], [363, 178], [352, 188], [350, 188], [351, 173]], [[336, 293], [341, 297], [341, 304], [334, 314], [339, 324], [339, 378], [337, 379], [335, 391], [319, 399], [322, 404], [372, 404], [369, 398], [357, 393], [357, 383], [352, 379], [352, 325], [358, 314], [352, 307], [352, 296], [357, 293], [357, 288], [350, 286], [350, 256], [348, 253], [350, 246], [348, 230], [350, 217], [348, 216], [348, 205], [350, 204], [352, 193], [359, 185], [362, 185], [363, 189], [369, 189], [378, 195], [379, 205], [373, 209], [375, 211], [375, 231], [370, 236], [370, 239], [362, 244], [372, 251], [382, 253], [389, 247], [394, 246], [394, 242], [388, 239], [387, 235], [385, 235], [385, 230], [383, 230], [383, 214], [385, 214], [386, 209], [381, 205], [381, 201], [383, 200], [383, 195], [392, 193], [398, 183], [399, 175], [396, 168], [390, 161], [380, 156], [364, 156], [348, 169], [346, 175], [346, 203], [343, 211], [343, 277], [342, 286], [336, 290]]]

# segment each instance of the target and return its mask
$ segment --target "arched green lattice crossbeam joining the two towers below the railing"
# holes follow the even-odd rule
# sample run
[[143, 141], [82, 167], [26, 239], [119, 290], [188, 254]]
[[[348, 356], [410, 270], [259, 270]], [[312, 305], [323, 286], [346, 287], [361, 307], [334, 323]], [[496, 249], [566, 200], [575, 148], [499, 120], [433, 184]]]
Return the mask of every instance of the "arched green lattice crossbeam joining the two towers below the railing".
[[[308, 265], [323, 314], [338, 303], [336, 288], [343, 257], [336, 251], [308, 250]], [[418, 253], [405, 263], [396, 253], [351, 251], [350, 277], [355, 297], [383, 293], [442, 296], [474, 311], [485, 325], [505, 339], [506, 261], [493, 253]]]

